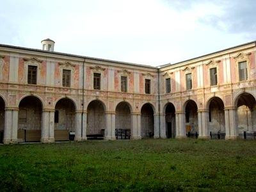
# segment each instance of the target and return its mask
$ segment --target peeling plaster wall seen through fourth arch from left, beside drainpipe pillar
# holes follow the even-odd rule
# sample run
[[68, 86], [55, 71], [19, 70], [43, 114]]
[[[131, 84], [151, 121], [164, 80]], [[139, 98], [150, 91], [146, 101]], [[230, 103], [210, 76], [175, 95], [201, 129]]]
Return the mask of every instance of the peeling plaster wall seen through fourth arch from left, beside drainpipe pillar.
[[106, 129], [106, 115], [102, 104], [93, 101], [87, 110], [86, 134], [102, 134]]

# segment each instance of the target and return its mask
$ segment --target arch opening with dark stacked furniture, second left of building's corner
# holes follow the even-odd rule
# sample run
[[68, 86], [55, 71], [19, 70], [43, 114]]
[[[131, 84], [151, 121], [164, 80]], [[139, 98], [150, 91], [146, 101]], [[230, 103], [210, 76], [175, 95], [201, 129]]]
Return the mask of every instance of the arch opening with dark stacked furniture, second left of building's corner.
[[132, 108], [126, 101], [119, 102], [115, 108], [116, 139], [130, 139], [132, 129]]

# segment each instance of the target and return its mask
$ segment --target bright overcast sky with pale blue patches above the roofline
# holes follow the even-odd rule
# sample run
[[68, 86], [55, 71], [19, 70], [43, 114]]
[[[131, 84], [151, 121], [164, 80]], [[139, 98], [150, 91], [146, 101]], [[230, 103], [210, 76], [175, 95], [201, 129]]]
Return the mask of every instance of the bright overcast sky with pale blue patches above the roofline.
[[147, 65], [256, 40], [256, 0], [1, 0], [0, 44]]

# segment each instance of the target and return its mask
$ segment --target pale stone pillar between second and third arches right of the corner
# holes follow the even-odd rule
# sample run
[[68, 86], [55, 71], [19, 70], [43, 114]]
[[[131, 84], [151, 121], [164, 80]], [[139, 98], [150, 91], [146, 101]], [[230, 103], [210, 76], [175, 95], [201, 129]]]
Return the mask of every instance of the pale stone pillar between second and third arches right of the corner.
[[198, 138], [200, 139], [209, 139], [209, 129], [207, 121], [209, 121], [209, 112], [207, 109], [198, 110]]

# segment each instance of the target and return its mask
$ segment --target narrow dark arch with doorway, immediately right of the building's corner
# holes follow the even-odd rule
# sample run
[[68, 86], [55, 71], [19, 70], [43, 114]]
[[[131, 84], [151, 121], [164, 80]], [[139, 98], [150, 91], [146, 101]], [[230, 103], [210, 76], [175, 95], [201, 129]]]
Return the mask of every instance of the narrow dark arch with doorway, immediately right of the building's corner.
[[165, 114], [165, 127], [166, 127], [166, 137], [175, 138], [176, 136], [176, 109], [172, 102], [168, 102], [164, 106]]

